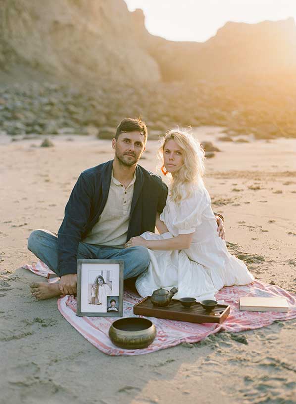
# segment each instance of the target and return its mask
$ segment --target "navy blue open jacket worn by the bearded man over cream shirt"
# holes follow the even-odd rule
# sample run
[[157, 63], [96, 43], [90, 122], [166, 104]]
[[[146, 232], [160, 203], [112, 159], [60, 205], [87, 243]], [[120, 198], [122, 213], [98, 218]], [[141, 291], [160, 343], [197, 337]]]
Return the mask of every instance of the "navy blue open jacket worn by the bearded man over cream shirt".
[[[83, 171], [70, 195], [58, 231], [59, 275], [77, 272], [79, 242], [97, 223], [108, 199], [113, 160]], [[136, 167], [127, 240], [145, 231], [154, 232], [156, 212], [161, 213], [168, 189], [158, 175]]]

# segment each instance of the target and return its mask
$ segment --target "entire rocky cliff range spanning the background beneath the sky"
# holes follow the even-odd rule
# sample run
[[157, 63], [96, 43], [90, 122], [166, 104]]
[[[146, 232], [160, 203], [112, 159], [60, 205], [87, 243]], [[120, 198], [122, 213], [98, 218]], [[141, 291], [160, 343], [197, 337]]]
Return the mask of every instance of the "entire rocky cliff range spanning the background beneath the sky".
[[296, 69], [293, 18], [229, 22], [204, 43], [150, 35], [123, 0], [1, 0], [0, 67], [24, 63], [63, 79], [158, 82]]

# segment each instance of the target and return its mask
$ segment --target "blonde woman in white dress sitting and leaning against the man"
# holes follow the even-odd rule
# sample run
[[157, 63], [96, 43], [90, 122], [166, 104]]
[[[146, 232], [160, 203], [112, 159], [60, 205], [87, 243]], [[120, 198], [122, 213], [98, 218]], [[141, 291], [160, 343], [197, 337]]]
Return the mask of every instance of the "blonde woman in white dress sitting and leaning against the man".
[[231, 255], [217, 233], [210, 196], [204, 186], [204, 151], [190, 133], [172, 130], [159, 149], [162, 172], [172, 182], [166, 206], [156, 218], [158, 234], [132, 237], [126, 247], [145, 246], [151, 262], [136, 281], [143, 297], [160, 287], [178, 287], [175, 299], [214, 299], [223, 286], [254, 280], [246, 265]]

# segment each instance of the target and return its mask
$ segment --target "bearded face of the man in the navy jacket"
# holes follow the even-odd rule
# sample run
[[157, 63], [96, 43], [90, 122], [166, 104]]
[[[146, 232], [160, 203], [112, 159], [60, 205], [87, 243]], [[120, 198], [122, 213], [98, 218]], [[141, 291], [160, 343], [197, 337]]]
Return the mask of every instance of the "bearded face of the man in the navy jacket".
[[121, 164], [131, 167], [136, 164], [145, 150], [144, 135], [140, 132], [125, 132], [112, 140], [115, 156]]

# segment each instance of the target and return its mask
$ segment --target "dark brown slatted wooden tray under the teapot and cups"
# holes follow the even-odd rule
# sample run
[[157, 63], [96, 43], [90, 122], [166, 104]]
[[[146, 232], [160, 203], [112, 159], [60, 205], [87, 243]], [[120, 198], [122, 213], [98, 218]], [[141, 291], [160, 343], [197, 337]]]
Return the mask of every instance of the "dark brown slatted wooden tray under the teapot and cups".
[[167, 320], [188, 321], [190, 323], [223, 323], [228, 316], [230, 306], [218, 304], [209, 314], [196, 302], [190, 308], [182, 306], [177, 299], [172, 299], [166, 307], [155, 307], [151, 302], [151, 296], [146, 296], [134, 305], [134, 314], [147, 317], [166, 318]]

